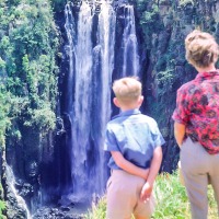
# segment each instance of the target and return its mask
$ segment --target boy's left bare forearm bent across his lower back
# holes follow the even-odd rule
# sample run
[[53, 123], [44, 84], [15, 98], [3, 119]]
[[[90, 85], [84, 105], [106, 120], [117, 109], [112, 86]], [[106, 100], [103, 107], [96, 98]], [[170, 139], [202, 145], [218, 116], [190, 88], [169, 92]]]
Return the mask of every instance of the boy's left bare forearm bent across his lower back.
[[115, 163], [123, 169], [124, 171], [140, 176], [145, 180], [148, 177], [149, 169], [142, 169], [135, 164], [132, 164], [130, 161], [126, 160], [123, 154], [119, 151], [111, 151], [111, 154], [115, 161]]

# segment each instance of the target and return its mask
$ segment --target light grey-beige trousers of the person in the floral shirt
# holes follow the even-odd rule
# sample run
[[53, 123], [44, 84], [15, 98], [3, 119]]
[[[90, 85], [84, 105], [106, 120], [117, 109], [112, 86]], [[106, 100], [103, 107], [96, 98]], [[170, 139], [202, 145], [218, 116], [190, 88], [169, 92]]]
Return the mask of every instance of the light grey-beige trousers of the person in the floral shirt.
[[209, 154], [199, 142], [187, 138], [181, 148], [181, 166], [193, 219], [207, 219], [208, 183], [219, 206], [219, 154]]

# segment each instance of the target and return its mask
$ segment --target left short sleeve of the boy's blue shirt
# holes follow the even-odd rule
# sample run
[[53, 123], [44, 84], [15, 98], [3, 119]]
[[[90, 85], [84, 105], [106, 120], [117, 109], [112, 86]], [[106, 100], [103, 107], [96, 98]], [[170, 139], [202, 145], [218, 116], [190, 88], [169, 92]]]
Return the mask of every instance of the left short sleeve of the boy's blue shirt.
[[119, 151], [116, 142], [116, 138], [114, 132], [111, 130], [110, 126], [107, 125], [106, 128], [106, 136], [104, 142], [104, 150], [105, 151]]

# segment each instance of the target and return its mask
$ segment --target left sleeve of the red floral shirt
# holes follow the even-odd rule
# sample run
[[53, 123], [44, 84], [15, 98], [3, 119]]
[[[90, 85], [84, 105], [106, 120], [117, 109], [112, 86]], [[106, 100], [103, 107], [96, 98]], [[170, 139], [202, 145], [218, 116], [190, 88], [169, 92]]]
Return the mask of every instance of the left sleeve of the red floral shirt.
[[188, 102], [186, 93], [180, 89], [177, 91], [176, 108], [173, 112], [172, 119], [180, 124], [186, 125], [189, 120], [189, 114], [187, 107], [188, 107]]

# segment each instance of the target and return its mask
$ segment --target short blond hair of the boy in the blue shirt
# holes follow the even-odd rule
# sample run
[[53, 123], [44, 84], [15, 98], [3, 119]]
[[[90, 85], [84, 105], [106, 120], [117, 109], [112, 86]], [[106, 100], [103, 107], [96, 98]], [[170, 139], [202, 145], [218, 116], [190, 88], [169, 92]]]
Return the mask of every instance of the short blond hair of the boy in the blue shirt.
[[122, 78], [113, 83], [115, 96], [123, 103], [137, 101], [141, 90], [142, 85], [137, 78]]

